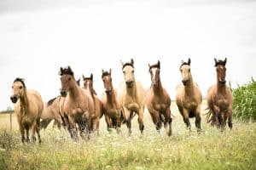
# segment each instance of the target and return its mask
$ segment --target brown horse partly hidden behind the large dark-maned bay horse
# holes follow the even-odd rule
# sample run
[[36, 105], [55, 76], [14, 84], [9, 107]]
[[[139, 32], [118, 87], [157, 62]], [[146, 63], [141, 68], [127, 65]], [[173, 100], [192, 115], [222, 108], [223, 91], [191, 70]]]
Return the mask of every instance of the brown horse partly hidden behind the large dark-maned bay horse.
[[84, 80], [83, 88], [90, 91], [90, 95], [92, 96], [93, 103], [94, 103], [94, 112], [90, 116], [90, 120], [91, 120], [90, 130], [96, 131], [97, 134], [99, 134], [100, 119], [103, 116], [103, 104], [102, 104], [102, 101], [96, 95], [96, 91], [93, 88], [93, 75], [90, 74], [90, 77], [84, 77], [83, 75], [83, 80]]

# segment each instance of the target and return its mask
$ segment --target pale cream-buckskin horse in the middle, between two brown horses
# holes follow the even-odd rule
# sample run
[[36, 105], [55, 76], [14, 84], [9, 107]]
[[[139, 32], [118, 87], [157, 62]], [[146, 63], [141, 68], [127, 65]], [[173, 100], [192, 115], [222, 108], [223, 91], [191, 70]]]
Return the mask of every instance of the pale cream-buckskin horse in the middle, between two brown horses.
[[134, 61], [123, 63], [122, 71], [125, 81], [119, 84], [118, 99], [120, 105], [124, 109], [124, 121], [128, 127], [129, 134], [131, 134], [131, 119], [134, 113], [138, 115], [139, 129], [143, 134], [143, 112], [144, 112], [144, 97], [145, 90], [140, 82], [137, 82], [134, 77]]

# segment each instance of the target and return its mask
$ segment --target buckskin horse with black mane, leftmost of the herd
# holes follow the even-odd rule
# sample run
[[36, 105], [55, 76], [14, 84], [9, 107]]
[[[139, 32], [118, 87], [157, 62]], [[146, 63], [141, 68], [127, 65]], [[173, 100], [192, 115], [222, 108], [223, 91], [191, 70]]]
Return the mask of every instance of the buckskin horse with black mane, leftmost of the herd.
[[40, 137], [40, 116], [44, 104], [41, 95], [35, 90], [26, 89], [23, 79], [17, 77], [12, 86], [13, 94], [10, 99], [15, 104], [15, 114], [20, 127], [21, 142], [30, 142], [29, 130], [32, 129], [32, 142], [36, 142], [35, 133], [38, 133], [38, 142], [41, 143]]

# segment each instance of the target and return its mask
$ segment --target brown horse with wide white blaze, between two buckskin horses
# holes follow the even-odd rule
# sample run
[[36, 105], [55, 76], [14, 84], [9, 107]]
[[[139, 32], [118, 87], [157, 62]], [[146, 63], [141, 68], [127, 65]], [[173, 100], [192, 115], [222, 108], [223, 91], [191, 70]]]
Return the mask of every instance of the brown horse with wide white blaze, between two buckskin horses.
[[[160, 61], [157, 64], [149, 65], [149, 73], [151, 76], [151, 87], [147, 90], [145, 103], [156, 126], [156, 130], [160, 132], [162, 122], [166, 127], [168, 136], [172, 135], [172, 117], [171, 117], [171, 98], [166, 92], [166, 89], [162, 87], [160, 81]], [[169, 130], [167, 126], [169, 125]]]

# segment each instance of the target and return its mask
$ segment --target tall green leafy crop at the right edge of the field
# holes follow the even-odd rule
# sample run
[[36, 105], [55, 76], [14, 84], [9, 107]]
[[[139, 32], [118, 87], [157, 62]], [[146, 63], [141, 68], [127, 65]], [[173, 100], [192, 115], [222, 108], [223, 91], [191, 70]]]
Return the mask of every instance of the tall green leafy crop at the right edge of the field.
[[233, 115], [245, 120], [256, 120], [256, 82], [251, 82], [233, 89]]

